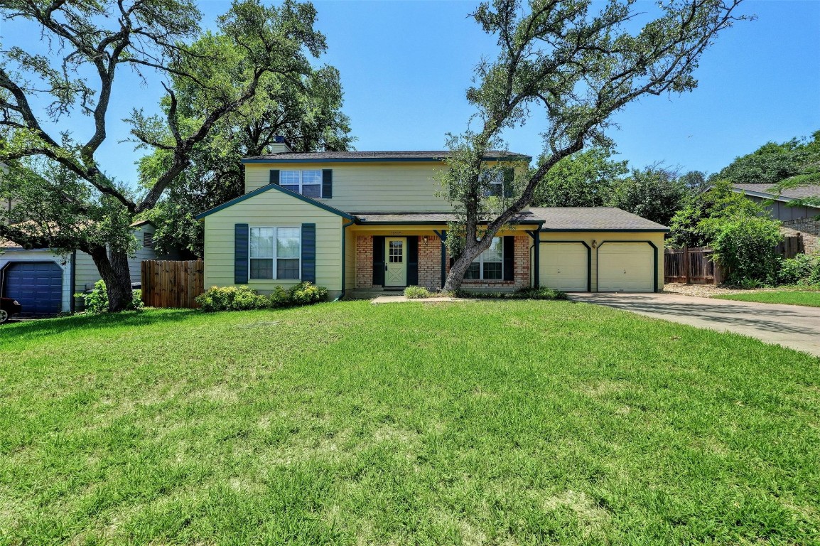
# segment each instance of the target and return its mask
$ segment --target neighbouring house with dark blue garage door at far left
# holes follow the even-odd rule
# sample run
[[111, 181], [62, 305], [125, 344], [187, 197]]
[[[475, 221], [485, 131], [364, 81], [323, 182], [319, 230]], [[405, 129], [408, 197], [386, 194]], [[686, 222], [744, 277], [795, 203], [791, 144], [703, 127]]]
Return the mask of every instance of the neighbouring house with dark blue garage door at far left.
[[[158, 255], [153, 249], [154, 225], [134, 222], [139, 248], [129, 260], [131, 280], [140, 282], [143, 260], [176, 259]], [[79, 308], [74, 294], [93, 288], [100, 279], [91, 257], [75, 251], [55, 254], [49, 248], [26, 249], [0, 240], [0, 294], [15, 298], [23, 306], [22, 316], [48, 316]]]

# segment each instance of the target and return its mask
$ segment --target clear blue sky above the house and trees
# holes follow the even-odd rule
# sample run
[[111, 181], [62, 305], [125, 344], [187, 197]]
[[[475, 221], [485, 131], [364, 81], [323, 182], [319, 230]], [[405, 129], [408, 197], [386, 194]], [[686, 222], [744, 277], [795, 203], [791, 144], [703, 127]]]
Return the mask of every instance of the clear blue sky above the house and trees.
[[[494, 38], [467, 14], [476, 2], [317, 1], [317, 28], [328, 52], [317, 63], [336, 66], [344, 84], [344, 111], [359, 150], [442, 149], [445, 134], [467, 127], [472, 110], [464, 98], [473, 67], [492, 56]], [[229, 2], [200, 2], [203, 25]], [[653, 2], [638, 2], [651, 11]], [[820, 130], [820, 1], [747, 0], [740, 22], [705, 53], [693, 93], [649, 97], [614, 117], [609, 135], [620, 159], [642, 167], [663, 161], [683, 171], [714, 172], [769, 140], [784, 141]], [[3, 46], [39, 48], [22, 26], [0, 29]], [[35, 42], [26, 43], [34, 36]], [[118, 123], [131, 107], [151, 110], [158, 81], [128, 76], [114, 94], [103, 168], [119, 180], [135, 178], [127, 127]], [[65, 123], [65, 121], [64, 121]], [[72, 126], [82, 126], [76, 121]], [[544, 123], [508, 131], [509, 148], [538, 156]]]

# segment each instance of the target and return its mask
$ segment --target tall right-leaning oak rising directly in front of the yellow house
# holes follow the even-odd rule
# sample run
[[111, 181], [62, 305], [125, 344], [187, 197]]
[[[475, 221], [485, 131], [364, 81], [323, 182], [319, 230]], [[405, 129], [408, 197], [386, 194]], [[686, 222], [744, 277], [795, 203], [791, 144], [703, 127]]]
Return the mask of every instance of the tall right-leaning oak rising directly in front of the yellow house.
[[[742, 17], [740, 0], [671, 0], [661, 15], [634, 30], [635, 2], [519, 0], [483, 2], [473, 14], [498, 38], [499, 54], [476, 68], [467, 99], [476, 107], [476, 130], [451, 135], [449, 169], [440, 175], [461, 221], [451, 242], [458, 258], [444, 289], [458, 289], [471, 262], [503, 225], [529, 205], [535, 189], [561, 162], [590, 143], [609, 145], [610, 116], [645, 95], [682, 93], [697, 86], [694, 71], [718, 33]], [[600, 6], [599, 11], [596, 11]], [[503, 166], [482, 159], [504, 148], [512, 130], [543, 108], [544, 157], [537, 168], [519, 166], [512, 198], [485, 197]], [[515, 165], [516, 158], [510, 164]], [[481, 222], [486, 224], [482, 225]], [[450, 239], [455, 239], [451, 237]]]

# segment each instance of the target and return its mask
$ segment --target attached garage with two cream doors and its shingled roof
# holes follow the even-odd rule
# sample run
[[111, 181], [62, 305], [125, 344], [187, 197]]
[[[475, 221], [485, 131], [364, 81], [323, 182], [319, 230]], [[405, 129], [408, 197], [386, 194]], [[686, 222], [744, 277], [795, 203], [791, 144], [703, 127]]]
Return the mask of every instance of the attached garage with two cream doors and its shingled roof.
[[544, 221], [533, 245], [534, 278], [565, 292], [663, 289], [669, 229], [615, 207], [534, 207]]

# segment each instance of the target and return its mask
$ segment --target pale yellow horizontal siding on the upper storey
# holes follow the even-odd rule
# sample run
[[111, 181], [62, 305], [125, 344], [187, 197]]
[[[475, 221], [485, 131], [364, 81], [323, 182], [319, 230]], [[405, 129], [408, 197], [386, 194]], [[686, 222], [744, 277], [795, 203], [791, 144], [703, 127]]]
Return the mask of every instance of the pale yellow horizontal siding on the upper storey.
[[280, 171], [331, 169], [333, 198], [321, 199], [345, 212], [447, 212], [446, 198], [437, 196], [441, 186], [434, 180], [442, 162], [395, 163], [248, 163], [245, 193], [262, 188], [271, 169]]

